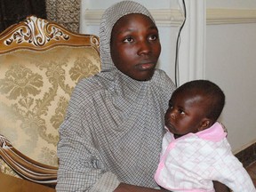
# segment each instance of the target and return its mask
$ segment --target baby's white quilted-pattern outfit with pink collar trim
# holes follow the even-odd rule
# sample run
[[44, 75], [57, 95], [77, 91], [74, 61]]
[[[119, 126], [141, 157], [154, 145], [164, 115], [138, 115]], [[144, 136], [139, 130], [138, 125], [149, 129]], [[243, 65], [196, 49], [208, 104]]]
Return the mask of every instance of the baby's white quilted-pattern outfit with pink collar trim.
[[176, 140], [166, 132], [156, 182], [173, 192], [214, 192], [212, 180], [234, 192], [255, 192], [243, 164], [232, 154], [226, 135], [219, 123]]

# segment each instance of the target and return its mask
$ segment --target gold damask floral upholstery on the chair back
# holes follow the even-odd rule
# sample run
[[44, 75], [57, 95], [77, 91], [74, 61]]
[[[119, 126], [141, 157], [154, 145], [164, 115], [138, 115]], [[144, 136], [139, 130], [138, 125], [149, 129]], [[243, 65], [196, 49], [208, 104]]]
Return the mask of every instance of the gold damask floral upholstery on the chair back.
[[[58, 130], [70, 94], [80, 79], [100, 71], [98, 52], [71, 46], [22, 50], [1, 54], [0, 63], [0, 133], [24, 155], [58, 166]], [[2, 163], [1, 172], [13, 174]]]

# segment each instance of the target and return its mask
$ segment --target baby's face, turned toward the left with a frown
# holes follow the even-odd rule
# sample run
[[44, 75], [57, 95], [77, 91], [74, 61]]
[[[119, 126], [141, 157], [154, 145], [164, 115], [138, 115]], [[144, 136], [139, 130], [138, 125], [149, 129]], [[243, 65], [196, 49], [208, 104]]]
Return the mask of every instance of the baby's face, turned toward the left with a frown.
[[164, 116], [165, 126], [175, 135], [198, 132], [204, 120], [206, 102], [200, 93], [176, 92], [172, 94]]

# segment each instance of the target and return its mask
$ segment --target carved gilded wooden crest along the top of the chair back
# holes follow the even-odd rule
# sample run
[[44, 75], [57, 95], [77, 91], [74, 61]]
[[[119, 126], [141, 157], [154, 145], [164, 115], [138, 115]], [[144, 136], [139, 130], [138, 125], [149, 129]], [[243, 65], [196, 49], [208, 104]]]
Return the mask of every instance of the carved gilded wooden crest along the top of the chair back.
[[68, 31], [59, 24], [29, 16], [0, 34], [0, 53], [17, 49], [44, 51], [55, 46], [92, 46], [99, 52], [99, 37]]

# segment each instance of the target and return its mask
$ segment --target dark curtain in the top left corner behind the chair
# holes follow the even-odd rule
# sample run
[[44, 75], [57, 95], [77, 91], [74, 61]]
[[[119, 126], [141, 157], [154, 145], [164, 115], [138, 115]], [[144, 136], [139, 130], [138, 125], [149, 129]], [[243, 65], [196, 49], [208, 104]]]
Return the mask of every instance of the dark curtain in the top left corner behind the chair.
[[0, 33], [32, 14], [46, 19], [44, 0], [0, 0]]

